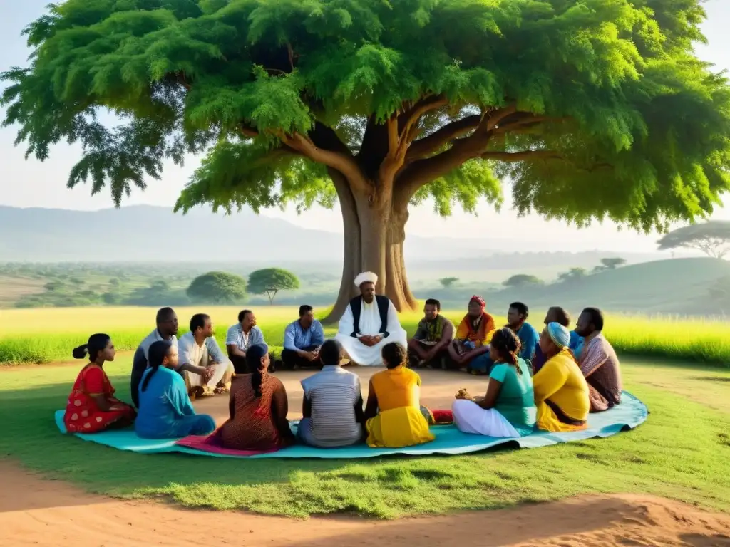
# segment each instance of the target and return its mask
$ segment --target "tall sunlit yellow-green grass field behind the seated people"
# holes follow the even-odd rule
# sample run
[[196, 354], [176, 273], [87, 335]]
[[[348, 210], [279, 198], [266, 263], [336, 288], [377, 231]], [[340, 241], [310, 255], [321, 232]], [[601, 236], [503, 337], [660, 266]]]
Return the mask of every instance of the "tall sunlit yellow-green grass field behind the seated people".
[[[223, 345], [226, 329], [236, 322], [239, 308], [208, 306], [204, 309], [177, 309], [181, 333], [192, 314], [211, 315], [216, 338]], [[284, 327], [296, 318], [296, 308], [261, 306], [255, 309], [258, 324], [270, 346], [283, 344]], [[462, 311], [445, 311], [458, 322]], [[88, 335], [106, 332], [118, 349], [132, 350], [154, 328], [155, 310], [150, 308], [52, 308], [0, 310], [0, 363], [43, 363], [71, 360], [74, 346]], [[534, 311], [533, 324], [539, 327], [542, 313]], [[412, 333], [420, 314], [403, 314], [401, 322]], [[497, 324], [504, 317], [496, 318]], [[328, 328], [332, 335], [335, 328]], [[730, 366], [730, 322], [672, 317], [614, 315], [607, 318], [605, 330], [614, 347], [624, 353], [648, 357]]]

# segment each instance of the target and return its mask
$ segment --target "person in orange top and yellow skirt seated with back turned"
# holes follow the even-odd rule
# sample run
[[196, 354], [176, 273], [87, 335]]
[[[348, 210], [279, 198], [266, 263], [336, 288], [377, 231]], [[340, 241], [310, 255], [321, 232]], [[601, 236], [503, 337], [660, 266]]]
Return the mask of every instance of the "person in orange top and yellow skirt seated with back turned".
[[383, 346], [387, 370], [370, 379], [365, 419], [367, 443], [373, 448], [401, 448], [434, 440], [420, 410], [420, 376], [406, 368], [406, 349], [397, 342]]

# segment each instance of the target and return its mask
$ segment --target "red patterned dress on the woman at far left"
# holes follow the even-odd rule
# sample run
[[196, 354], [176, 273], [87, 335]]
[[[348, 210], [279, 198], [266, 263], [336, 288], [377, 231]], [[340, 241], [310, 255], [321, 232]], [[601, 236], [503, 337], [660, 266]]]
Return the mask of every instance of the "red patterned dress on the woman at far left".
[[[113, 410], [102, 411], [94, 398], [97, 395], [104, 395]], [[114, 387], [104, 369], [90, 362], [81, 369], [74, 382], [64, 424], [69, 433], [96, 433], [120, 419], [131, 422], [136, 416], [134, 408], [114, 397]]]

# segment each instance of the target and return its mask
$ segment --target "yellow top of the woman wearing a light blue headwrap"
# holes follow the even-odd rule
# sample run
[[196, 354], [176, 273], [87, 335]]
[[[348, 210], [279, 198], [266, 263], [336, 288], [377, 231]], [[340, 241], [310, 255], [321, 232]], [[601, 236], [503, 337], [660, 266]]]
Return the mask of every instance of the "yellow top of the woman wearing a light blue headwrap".
[[588, 384], [572, 355], [564, 350], [551, 357], [533, 379], [536, 403], [546, 403], [564, 418], [585, 422], [591, 408]]

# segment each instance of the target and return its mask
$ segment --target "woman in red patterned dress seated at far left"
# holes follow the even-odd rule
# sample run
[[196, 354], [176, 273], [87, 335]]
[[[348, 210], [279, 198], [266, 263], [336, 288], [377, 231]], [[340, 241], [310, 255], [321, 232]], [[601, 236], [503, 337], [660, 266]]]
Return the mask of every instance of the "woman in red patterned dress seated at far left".
[[74, 358], [89, 362], [81, 369], [69, 395], [64, 425], [69, 433], [96, 433], [120, 429], [134, 422], [137, 412], [114, 396], [114, 387], [104, 372], [104, 362], [113, 361], [116, 350], [106, 334], [93, 334], [83, 346], [74, 348]]

